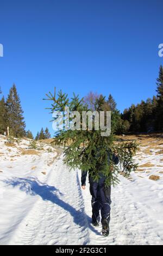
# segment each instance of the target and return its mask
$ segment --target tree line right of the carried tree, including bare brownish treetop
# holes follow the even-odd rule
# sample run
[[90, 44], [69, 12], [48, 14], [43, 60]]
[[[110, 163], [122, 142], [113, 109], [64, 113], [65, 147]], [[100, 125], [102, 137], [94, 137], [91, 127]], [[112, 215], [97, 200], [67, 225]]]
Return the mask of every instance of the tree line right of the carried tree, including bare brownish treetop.
[[102, 95], [90, 92], [84, 97], [84, 103], [94, 111], [93, 106], [96, 100], [103, 98], [103, 109], [111, 111], [111, 129], [115, 134], [122, 133], [139, 133], [139, 132], [156, 132], [163, 131], [163, 68], [160, 66], [159, 77], [156, 80], [156, 96], [148, 98], [146, 101], [124, 109], [120, 113], [117, 104], [112, 95], [108, 99]]

